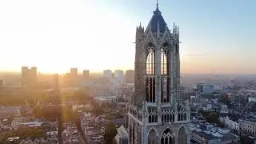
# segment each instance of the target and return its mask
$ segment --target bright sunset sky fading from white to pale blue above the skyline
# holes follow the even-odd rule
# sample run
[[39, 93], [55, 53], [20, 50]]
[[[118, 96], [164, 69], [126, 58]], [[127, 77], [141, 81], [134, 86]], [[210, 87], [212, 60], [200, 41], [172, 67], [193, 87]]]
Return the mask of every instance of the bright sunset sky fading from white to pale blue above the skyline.
[[[255, 74], [256, 1], [159, 0], [186, 74]], [[0, 71], [134, 69], [136, 26], [156, 0], [0, 0]]]

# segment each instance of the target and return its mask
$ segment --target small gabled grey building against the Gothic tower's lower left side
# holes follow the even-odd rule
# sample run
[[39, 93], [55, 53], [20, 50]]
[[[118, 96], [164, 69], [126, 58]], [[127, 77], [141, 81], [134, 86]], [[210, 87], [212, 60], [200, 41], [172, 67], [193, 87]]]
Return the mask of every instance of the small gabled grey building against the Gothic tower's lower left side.
[[128, 133], [124, 126], [120, 126], [118, 129], [118, 134], [114, 137], [114, 144], [128, 144]]

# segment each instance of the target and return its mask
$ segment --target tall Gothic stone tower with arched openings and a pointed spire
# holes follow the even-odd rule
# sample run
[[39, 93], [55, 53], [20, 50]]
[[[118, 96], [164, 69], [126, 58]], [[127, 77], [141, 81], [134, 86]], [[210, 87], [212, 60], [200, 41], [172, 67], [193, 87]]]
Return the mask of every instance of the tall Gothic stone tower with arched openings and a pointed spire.
[[130, 144], [189, 143], [190, 108], [180, 98], [178, 26], [170, 31], [161, 11], [136, 30], [135, 92], [129, 104]]

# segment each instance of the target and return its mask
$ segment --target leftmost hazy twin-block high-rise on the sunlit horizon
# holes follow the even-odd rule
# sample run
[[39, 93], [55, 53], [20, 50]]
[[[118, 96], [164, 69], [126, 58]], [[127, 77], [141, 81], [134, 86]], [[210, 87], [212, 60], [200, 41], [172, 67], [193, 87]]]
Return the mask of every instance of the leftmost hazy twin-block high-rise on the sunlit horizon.
[[22, 85], [33, 85], [37, 82], [37, 67], [22, 66]]

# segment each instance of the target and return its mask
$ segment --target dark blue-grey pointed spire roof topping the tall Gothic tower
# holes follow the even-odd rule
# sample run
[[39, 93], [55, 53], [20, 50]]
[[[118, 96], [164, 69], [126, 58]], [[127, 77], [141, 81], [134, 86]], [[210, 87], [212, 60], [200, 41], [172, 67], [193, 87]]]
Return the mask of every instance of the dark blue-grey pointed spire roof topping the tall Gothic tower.
[[154, 15], [150, 20], [148, 25], [152, 33], [157, 33], [158, 28], [160, 33], [164, 33], [166, 31], [166, 22], [162, 18], [161, 11], [158, 9], [158, 4], [156, 10], [154, 10]]

